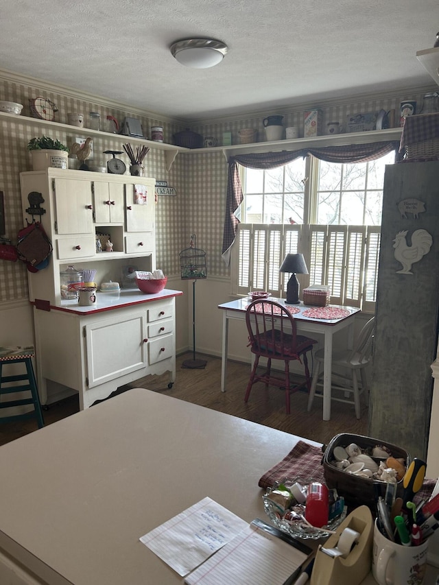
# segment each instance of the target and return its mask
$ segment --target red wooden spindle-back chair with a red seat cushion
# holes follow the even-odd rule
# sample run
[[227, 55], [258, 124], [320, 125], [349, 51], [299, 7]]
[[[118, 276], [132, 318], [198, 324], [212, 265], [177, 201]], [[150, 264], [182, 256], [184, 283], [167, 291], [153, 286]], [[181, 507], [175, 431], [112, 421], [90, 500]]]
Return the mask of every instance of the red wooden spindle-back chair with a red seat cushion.
[[[250, 396], [252, 385], [256, 382], [265, 382], [265, 386], [275, 385], [285, 388], [285, 403], [287, 414], [290, 414], [289, 395], [302, 387], [309, 392], [311, 379], [309, 376], [307, 353], [312, 350], [316, 339], [296, 334], [296, 322], [292, 313], [285, 305], [274, 300], [254, 300], [246, 309], [246, 324], [249, 336], [249, 346], [254, 354], [254, 365], [246, 390], [244, 401]], [[259, 358], [266, 357], [267, 368], [262, 374], [257, 373]], [[272, 359], [281, 359], [285, 362], [283, 378], [272, 374]], [[305, 383], [291, 386], [289, 380], [289, 362], [298, 360], [305, 366]]]

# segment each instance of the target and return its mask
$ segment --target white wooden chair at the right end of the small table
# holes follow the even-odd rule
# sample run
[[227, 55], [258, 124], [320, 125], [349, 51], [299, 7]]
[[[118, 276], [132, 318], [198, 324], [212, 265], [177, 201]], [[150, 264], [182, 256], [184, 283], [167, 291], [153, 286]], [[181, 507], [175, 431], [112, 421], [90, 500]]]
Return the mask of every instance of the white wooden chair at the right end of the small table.
[[[366, 376], [366, 366], [372, 360], [372, 346], [373, 336], [375, 331], [375, 317], [368, 320], [364, 325], [363, 329], [359, 334], [355, 347], [351, 350], [335, 351], [332, 356], [332, 372], [331, 378], [333, 383], [331, 384], [331, 400], [353, 404], [355, 407], [355, 416], [360, 418], [360, 395], [365, 394], [368, 398], [368, 379]], [[308, 412], [311, 410], [314, 396], [322, 397], [322, 393], [316, 393], [316, 387], [322, 386], [320, 379], [323, 376], [323, 362], [324, 362], [324, 348], [316, 352], [315, 355], [316, 366], [313, 374], [313, 382], [311, 384], [311, 392], [309, 392], [308, 399]], [[334, 372], [335, 368], [342, 368], [344, 372], [346, 370], [350, 375], [340, 374]], [[360, 374], [361, 382], [359, 383], [357, 372]], [[342, 382], [351, 383], [351, 386], [337, 384], [334, 379], [341, 379]], [[339, 395], [333, 396], [332, 390], [338, 392]], [[349, 394], [353, 394], [353, 398], [348, 398]]]

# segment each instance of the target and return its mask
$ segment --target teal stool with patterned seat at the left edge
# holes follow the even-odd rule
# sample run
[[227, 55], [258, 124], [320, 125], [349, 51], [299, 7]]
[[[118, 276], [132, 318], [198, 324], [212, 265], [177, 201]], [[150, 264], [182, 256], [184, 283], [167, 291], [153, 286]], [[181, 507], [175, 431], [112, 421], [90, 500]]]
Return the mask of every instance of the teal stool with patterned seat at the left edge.
[[[0, 409], [10, 408], [12, 406], [21, 406], [33, 404], [34, 410], [25, 414], [12, 414], [10, 416], [1, 416], [0, 422], [10, 422], [11, 420], [36, 418], [38, 428], [44, 427], [43, 412], [41, 411], [40, 397], [36, 387], [34, 368], [32, 366], [32, 357], [34, 357], [34, 347], [0, 347]], [[26, 373], [15, 374], [14, 376], [3, 376], [3, 366], [8, 363], [24, 363]], [[21, 385], [11, 385], [11, 382], [25, 381]], [[14, 394], [16, 392], [30, 392], [29, 398], [19, 400], [1, 400], [3, 394]]]

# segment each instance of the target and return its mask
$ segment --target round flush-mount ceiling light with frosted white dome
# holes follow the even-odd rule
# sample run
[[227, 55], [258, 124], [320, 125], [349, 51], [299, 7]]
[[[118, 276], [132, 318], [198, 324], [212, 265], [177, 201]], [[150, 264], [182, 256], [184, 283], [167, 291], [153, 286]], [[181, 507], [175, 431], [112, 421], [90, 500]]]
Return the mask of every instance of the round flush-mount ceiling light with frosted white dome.
[[227, 45], [209, 38], [188, 38], [171, 45], [171, 53], [176, 60], [194, 69], [207, 69], [217, 65], [222, 62], [227, 51]]

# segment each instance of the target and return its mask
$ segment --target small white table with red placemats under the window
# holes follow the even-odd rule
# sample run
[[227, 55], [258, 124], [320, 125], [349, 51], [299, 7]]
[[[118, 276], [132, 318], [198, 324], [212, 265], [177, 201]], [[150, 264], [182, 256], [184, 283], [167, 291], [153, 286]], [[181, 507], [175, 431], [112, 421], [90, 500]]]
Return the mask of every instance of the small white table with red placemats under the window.
[[[272, 298], [285, 305], [285, 299]], [[218, 305], [218, 309], [223, 311], [222, 322], [222, 367], [221, 367], [221, 390], [226, 392], [227, 379], [227, 359], [228, 359], [228, 324], [230, 320], [246, 320], [246, 308], [250, 304], [251, 299], [244, 297], [237, 300], [224, 302]], [[289, 305], [291, 307], [292, 305]], [[293, 315], [296, 321], [297, 333], [312, 334], [319, 333], [324, 337], [324, 371], [323, 371], [323, 420], [331, 420], [331, 371], [332, 371], [332, 348], [333, 337], [338, 331], [348, 329], [348, 348], [353, 346], [354, 338], [354, 322], [355, 315], [359, 313], [358, 307], [344, 307], [342, 305], [331, 305], [337, 309], [344, 309], [348, 314], [344, 317], [336, 319], [320, 319], [316, 317], [307, 317], [303, 313], [307, 309], [316, 309], [309, 305], [294, 305], [299, 309], [298, 313]]]

